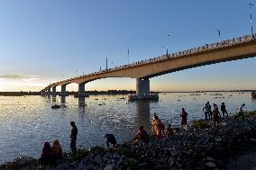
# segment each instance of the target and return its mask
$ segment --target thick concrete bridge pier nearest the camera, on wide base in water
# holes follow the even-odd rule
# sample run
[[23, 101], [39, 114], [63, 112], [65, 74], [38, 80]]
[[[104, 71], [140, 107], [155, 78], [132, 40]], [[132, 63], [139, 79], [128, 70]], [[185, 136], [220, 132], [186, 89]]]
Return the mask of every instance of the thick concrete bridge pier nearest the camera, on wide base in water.
[[129, 100], [159, 100], [159, 95], [150, 94], [149, 78], [136, 78], [136, 94], [129, 95]]

